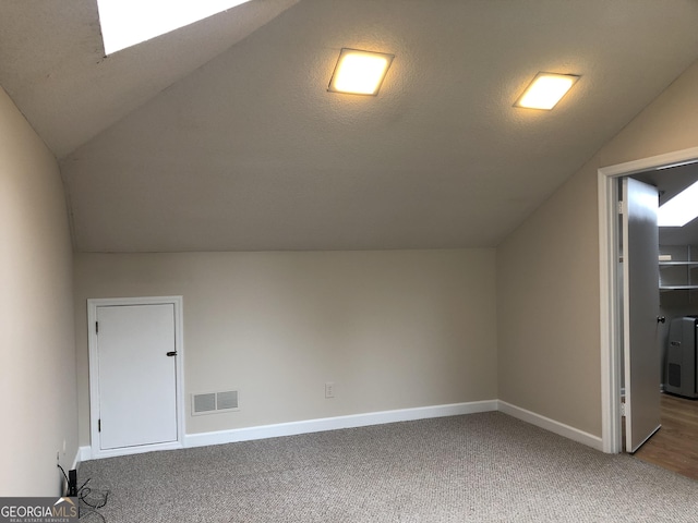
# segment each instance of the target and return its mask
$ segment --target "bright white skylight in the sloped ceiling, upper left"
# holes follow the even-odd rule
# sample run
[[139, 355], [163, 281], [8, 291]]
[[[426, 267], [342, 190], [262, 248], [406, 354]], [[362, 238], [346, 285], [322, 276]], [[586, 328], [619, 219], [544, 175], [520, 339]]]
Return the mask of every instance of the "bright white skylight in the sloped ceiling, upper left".
[[112, 54], [250, 0], [97, 0], [105, 52]]

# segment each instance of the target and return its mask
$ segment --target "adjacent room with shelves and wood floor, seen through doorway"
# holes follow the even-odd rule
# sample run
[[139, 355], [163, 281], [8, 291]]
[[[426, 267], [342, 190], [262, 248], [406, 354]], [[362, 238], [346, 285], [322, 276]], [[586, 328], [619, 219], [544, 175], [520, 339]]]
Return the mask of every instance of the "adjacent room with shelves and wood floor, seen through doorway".
[[[673, 166], [633, 175], [659, 195], [659, 324], [662, 429], [646, 442], [638, 458], [696, 477], [698, 388], [696, 386], [696, 317], [698, 315], [698, 166]], [[682, 200], [685, 200], [683, 205]], [[672, 204], [673, 203], [673, 204]]]

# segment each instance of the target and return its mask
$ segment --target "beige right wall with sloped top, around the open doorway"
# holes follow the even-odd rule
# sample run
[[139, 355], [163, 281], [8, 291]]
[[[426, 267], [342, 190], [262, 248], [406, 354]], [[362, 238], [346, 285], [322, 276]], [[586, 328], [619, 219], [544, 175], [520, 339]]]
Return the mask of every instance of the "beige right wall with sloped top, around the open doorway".
[[601, 436], [600, 167], [698, 146], [698, 63], [497, 250], [498, 397]]

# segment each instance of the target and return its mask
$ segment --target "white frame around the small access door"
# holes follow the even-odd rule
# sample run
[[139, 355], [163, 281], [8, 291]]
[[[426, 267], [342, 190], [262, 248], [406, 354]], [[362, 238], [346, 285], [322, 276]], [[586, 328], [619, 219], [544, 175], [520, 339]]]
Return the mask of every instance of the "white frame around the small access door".
[[[174, 382], [177, 402], [177, 440], [167, 443], [141, 445], [101, 450], [99, 447], [99, 361], [97, 353], [97, 308], [129, 305], [172, 305], [174, 308]], [[87, 345], [89, 350], [89, 441], [92, 459], [136, 454], [154, 450], [171, 450], [184, 447], [184, 336], [182, 323], [182, 296], [100, 297], [87, 300]]]

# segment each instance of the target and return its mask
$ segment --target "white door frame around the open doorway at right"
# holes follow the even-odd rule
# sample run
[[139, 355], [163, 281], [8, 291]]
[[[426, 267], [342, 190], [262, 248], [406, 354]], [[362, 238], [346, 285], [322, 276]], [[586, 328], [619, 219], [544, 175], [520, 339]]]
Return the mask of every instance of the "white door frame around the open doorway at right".
[[[698, 147], [627, 161], [598, 170], [599, 185], [599, 270], [601, 332], [601, 442], [602, 450], [623, 450], [621, 418], [622, 290], [616, 264], [619, 256], [617, 230], [618, 190], [616, 180], [652, 169], [698, 161]], [[658, 282], [659, 285], [659, 282]], [[658, 384], [659, 393], [659, 384]]]

